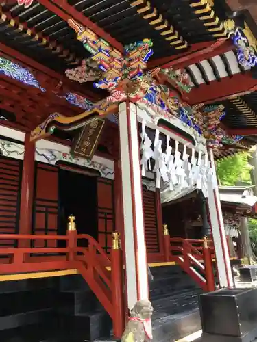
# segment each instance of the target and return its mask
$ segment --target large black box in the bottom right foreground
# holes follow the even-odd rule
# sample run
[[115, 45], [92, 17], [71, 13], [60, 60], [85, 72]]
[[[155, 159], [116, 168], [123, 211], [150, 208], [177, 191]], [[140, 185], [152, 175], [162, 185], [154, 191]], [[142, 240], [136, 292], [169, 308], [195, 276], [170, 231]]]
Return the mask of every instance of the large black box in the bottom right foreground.
[[222, 289], [199, 296], [203, 342], [257, 337], [257, 289]]

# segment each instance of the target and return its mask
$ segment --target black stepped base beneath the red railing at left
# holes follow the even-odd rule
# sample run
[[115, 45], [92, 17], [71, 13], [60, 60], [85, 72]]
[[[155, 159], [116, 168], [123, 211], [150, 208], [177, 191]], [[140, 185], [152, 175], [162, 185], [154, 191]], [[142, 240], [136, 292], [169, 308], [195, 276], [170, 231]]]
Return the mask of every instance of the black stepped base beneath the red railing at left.
[[0, 282], [1, 342], [84, 342], [112, 321], [79, 274]]

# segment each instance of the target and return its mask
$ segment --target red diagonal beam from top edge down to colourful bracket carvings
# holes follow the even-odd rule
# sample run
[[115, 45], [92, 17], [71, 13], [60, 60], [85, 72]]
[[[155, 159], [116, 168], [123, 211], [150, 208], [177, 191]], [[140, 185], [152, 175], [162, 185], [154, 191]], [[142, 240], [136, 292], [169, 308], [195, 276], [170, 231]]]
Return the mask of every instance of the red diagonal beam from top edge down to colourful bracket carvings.
[[90, 21], [90, 19], [86, 18], [82, 12], [77, 11], [75, 7], [69, 5], [66, 0], [53, 0], [53, 2], [49, 0], [38, 0], [38, 2], [45, 6], [47, 10], [60, 16], [60, 18], [62, 18], [64, 21], [74, 18], [75, 21], [79, 22], [84, 27], [88, 27], [88, 29], [95, 32], [97, 36], [106, 40], [115, 49], [119, 50], [120, 52], [124, 51], [123, 44], [110, 36], [110, 34], [104, 31], [104, 29], [101, 29], [101, 27], [99, 27], [97, 24], [93, 23], [93, 21]]

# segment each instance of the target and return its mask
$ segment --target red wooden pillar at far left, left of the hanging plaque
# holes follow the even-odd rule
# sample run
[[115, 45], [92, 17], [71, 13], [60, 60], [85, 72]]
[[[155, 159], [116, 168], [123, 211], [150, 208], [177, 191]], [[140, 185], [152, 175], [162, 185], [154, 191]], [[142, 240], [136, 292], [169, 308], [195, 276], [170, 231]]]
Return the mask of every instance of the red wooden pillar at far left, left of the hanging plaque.
[[[24, 141], [23, 176], [21, 181], [21, 211], [19, 222], [20, 234], [32, 233], [32, 205], [34, 194], [34, 161], [35, 144], [30, 141], [29, 133], [25, 134]], [[29, 245], [29, 241], [21, 241], [21, 247]]]

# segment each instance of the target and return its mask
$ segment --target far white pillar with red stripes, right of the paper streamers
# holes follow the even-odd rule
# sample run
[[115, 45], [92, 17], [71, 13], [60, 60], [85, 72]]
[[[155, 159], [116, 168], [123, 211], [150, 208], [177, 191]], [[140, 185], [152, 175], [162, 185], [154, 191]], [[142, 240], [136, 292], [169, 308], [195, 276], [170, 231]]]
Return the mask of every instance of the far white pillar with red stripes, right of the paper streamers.
[[[215, 161], [212, 150], [210, 150], [210, 162], [215, 170]], [[214, 189], [211, 184], [208, 185], [208, 209], [210, 224], [212, 227], [213, 244], [215, 247], [219, 285], [221, 287], [234, 287], [216, 172]]]

